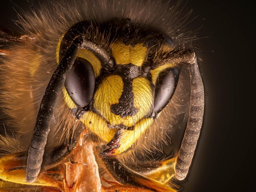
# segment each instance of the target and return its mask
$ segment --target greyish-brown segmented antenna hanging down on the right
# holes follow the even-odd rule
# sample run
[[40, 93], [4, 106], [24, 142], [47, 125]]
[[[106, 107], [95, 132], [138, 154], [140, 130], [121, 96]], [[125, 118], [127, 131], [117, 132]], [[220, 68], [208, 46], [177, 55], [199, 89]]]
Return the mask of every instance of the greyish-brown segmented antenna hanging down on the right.
[[204, 87], [200, 71], [198, 69], [197, 58], [194, 53], [193, 59], [188, 63], [190, 63], [189, 74], [191, 84], [190, 109], [186, 131], [182, 140], [182, 145], [180, 147], [175, 167], [175, 176], [178, 180], [185, 179], [189, 171], [189, 166], [193, 159], [195, 147], [200, 135], [202, 118], [204, 115]]

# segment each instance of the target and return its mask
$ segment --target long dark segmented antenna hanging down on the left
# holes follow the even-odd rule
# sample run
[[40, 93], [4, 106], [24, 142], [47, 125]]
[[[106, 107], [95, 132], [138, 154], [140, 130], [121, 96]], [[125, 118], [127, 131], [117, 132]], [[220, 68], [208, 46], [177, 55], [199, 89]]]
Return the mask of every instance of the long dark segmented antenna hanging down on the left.
[[54, 71], [45, 90], [28, 152], [26, 178], [29, 183], [33, 183], [40, 172], [45, 150], [44, 148], [47, 142], [47, 135], [49, 133], [50, 122], [54, 111], [54, 104], [58, 93], [61, 92], [61, 87], [65, 82], [66, 74], [74, 64], [77, 51], [82, 42], [83, 39], [81, 37], [74, 39], [72, 45], [69, 47], [67, 53], [63, 56], [60, 64]]

